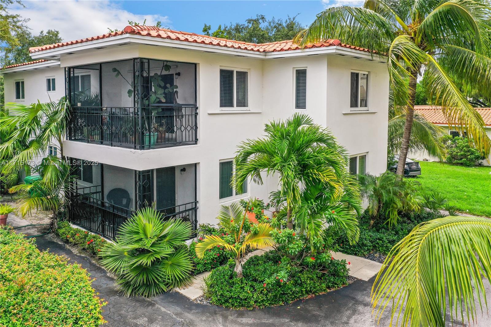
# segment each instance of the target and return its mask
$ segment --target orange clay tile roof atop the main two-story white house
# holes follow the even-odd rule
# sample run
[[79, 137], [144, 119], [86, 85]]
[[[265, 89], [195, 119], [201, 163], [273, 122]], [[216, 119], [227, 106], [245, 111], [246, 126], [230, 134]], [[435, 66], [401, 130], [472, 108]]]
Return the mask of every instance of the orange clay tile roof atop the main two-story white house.
[[[213, 36], [207, 35], [199, 35], [195, 33], [176, 31], [171, 29], [165, 29], [155, 26], [127, 26], [123, 30], [115, 31], [111, 33], [106, 33], [98, 36], [88, 37], [85, 39], [69, 41], [69, 42], [60, 42], [56, 44], [45, 45], [42, 47], [33, 47], [29, 48], [29, 53], [35, 53], [45, 50], [51, 50], [55, 48], [61, 48], [73, 44], [79, 44], [84, 42], [90, 42], [94, 40], [105, 39], [108, 37], [123, 35], [123, 34], [135, 34], [142, 36], [152, 36], [163, 39], [170, 39], [175, 41], [184, 41], [191, 43], [200, 43], [214, 46], [221, 46], [233, 49], [241, 49], [241, 50], [249, 50], [256, 52], [278, 52], [278, 51], [289, 51], [289, 50], [299, 50], [300, 47], [297, 44], [294, 44], [292, 40], [288, 41], [279, 41], [272, 43], [248, 43], [242, 41], [221, 39]], [[307, 49], [310, 48], [321, 48], [321, 47], [330, 47], [330, 46], [339, 46], [343, 48], [354, 49], [358, 51], [370, 52], [368, 49], [354, 47], [348, 44], [343, 44], [341, 41], [337, 39], [328, 39], [322, 43], [316, 43], [306, 46]]]

